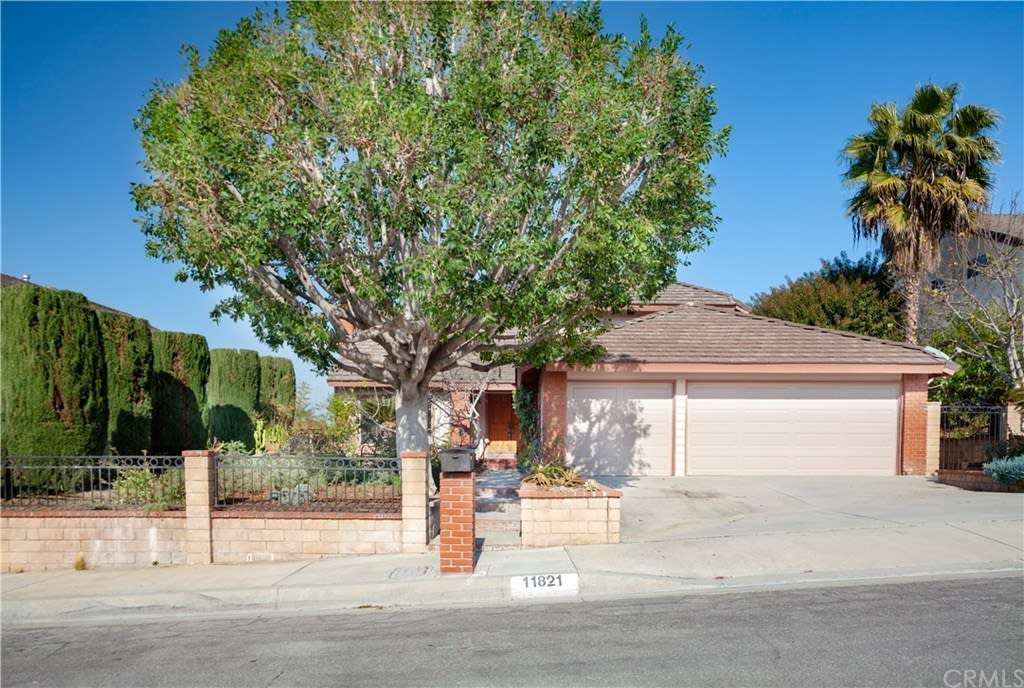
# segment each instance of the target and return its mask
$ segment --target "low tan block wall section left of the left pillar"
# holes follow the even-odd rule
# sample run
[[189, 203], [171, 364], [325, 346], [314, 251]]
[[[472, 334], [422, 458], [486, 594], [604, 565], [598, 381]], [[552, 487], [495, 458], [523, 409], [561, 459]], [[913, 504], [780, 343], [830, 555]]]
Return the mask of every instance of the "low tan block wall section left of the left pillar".
[[162, 514], [33, 512], [0, 518], [0, 563], [5, 571], [86, 566], [152, 566], [186, 563], [186, 519]]

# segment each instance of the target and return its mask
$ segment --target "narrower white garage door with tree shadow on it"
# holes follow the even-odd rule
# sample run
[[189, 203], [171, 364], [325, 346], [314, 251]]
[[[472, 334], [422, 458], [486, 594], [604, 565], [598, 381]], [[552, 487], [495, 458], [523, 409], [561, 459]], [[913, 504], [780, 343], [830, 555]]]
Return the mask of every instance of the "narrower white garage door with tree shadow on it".
[[586, 475], [670, 475], [672, 395], [672, 383], [570, 382], [566, 461]]

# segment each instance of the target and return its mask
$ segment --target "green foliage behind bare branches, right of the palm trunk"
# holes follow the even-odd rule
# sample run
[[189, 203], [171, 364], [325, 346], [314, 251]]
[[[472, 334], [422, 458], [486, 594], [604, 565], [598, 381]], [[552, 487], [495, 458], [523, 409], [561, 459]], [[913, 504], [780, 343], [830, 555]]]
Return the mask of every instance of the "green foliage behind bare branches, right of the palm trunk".
[[[982, 337], [995, 338], [994, 332], [978, 332]], [[932, 401], [942, 401], [953, 405], [1002, 405], [1010, 395], [1010, 384], [1006, 376], [988, 360], [962, 352], [959, 344], [973, 341], [975, 334], [962, 321], [953, 321], [945, 329], [926, 335], [931, 346], [949, 354], [959, 370], [951, 376], [934, 380], [929, 385], [928, 396]], [[1000, 353], [993, 347], [995, 356]], [[1002, 353], [1002, 360], [1006, 354]]]

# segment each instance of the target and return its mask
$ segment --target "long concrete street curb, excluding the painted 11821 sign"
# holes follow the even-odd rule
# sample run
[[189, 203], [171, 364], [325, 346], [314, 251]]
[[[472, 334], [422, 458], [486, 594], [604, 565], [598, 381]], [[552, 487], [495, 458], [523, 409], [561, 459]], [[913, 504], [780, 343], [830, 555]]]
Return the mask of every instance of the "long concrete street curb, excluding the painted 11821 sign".
[[667, 595], [728, 594], [825, 586], [909, 583], [936, 578], [1010, 577], [1024, 575], [1021, 562], [988, 562], [942, 569], [910, 567], [814, 574], [745, 576], [723, 579], [629, 575], [614, 572], [581, 574], [578, 594], [514, 600], [515, 575], [459, 575], [415, 582], [368, 582], [270, 589], [209, 590], [194, 593], [97, 595], [8, 599], [2, 621], [9, 626], [67, 622], [145, 621], [202, 616], [328, 614], [367, 609], [488, 607], [498, 605], [580, 603]]

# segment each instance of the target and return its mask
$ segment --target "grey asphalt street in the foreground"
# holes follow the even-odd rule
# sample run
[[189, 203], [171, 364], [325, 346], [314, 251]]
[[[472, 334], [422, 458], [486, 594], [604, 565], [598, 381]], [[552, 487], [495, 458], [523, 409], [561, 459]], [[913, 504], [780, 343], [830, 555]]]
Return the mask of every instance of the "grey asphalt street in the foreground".
[[3, 631], [15, 686], [1024, 688], [1019, 575]]

